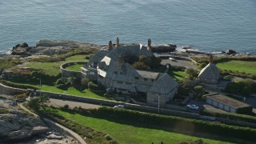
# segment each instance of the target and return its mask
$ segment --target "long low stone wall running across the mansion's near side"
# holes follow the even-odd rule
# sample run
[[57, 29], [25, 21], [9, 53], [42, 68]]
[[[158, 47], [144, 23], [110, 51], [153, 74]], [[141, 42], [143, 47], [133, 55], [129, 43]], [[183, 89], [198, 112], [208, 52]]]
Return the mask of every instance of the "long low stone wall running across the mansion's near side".
[[[0, 83], [0, 94], [15, 94], [19, 91], [26, 91], [23, 89], [18, 89], [10, 86], [5, 86]], [[37, 90], [35, 92], [37, 95], [40, 94], [40, 90]], [[109, 100], [102, 100], [102, 99], [97, 99], [97, 98], [85, 98], [85, 97], [79, 97], [79, 96], [74, 96], [74, 95], [69, 95], [69, 94], [58, 94], [58, 93], [51, 93], [51, 92], [46, 92], [46, 91], [41, 91], [42, 94], [48, 95], [50, 98], [62, 98], [65, 100], [70, 100], [74, 102], [88, 102], [88, 103], [95, 103], [95, 104], [100, 104], [103, 106], [115, 106], [115, 105], [124, 105], [127, 109], [131, 110], [142, 110], [146, 112], [154, 112], [158, 113], [158, 108], [157, 107], [152, 107], [152, 106], [140, 106], [140, 105], [135, 105], [135, 104], [130, 104], [130, 103], [123, 103], [123, 102], [114, 102], [114, 101], [109, 101]], [[197, 119], [209, 119], [212, 120], [211, 118], [202, 118], [202, 115], [200, 114], [193, 114], [185, 111], [180, 111], [180, 110], [168, 110], [168, 109], [162, 109], [159, 108], [160, 114], [168, 114], [168, 115], [175, 115], [175, 116], [180, 116], [180, 117], [185, 117], [185, 118], [197, 118]], [[225, 118], [216, 118], [216, 121], [219, 122], [227, 122], [230, 124], [235, 124], [235, 125], [241, 125], [241, 126], [254, 126], [256, 127], [256, 124], [249, 123], [249, 122], [238, 122], [238, 121], [233, 121], [230, 119], [225, 119]]]

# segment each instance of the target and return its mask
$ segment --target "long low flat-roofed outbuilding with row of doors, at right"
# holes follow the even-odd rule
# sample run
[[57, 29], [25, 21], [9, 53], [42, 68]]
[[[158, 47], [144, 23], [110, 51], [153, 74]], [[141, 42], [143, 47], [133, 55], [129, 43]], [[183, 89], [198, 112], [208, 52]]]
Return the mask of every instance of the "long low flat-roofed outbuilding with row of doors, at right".
[[230, 113], [248, 114], [253, 110], [252, 106], [221, 94], [206, 97], [206, 102]]

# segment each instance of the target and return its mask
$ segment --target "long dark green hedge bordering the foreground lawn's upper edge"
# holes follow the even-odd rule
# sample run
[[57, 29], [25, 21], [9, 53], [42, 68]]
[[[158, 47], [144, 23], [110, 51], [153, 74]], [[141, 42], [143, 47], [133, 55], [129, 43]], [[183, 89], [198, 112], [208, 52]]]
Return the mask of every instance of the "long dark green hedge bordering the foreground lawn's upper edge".
[[142, 113], [134, 110], [117, 110], [102, 107], [98, 110], [76, 109], [72, 112], [90, 115], [97, 118], [106, 118], [114, 121], [129, 122], [135, 125], [157, 126], [165, 130], [187, 131], [193, 126], [197, 133], [215, 134], [222, 137], [240, 138], [256, 141], [256, 129], [241, 126], [229, 126], [225, 124], [205, 122], [190, 118], [179, 118], [174, 116]]

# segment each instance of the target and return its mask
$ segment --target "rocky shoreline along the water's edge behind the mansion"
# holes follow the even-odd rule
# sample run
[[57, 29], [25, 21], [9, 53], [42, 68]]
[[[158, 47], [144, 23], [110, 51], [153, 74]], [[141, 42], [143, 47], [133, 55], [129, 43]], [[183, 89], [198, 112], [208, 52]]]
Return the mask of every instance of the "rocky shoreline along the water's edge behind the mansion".
[[[101, 49], [103, 45], [91, 44], [87, 42], [75, 42], [68, 40], [41, 40], [36, 46], [29, 46], [26, 42], [18, 44], [10, 50], [9, 54], [0, 54], [0, 58], [34, 58], [40, 56], [53, 56], [55, 54], [66, 54], [74, 49]], [[154, 53], [175, 53], [175, 54], [185, 54], [187, 56], [202, 56], [213, 54], [216, 56], [252, 56], [249, 53], [238, 53], [234, 50], [226, 50], [216, 53], [209, 53], [194, 50], [191, 46], [181, 46], [177, 47], [174, 44], [152, 46], [152, 51]]]

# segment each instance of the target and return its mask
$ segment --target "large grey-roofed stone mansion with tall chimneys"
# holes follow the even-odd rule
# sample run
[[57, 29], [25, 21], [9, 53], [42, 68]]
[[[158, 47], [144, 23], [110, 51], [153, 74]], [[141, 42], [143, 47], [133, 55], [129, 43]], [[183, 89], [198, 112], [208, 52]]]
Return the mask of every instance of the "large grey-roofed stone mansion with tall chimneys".
[[90, 56], [88, 65], [82, 67], [82, 74], [86, 78], [95, 80], [106, 90], [122, 94], [144, 94], [149, 105], [161, 106], [174, 98], [178, 83], [166, 73], [156, 73], [145, 70], [136, 70], [127, 61], [129, 58], [138, 58], [141, 55], [154, 57], [151, 53], [151, 41], [147, 46], [138, 44], [120, 45], [116, 39], [115, 46], [109, 46]]

